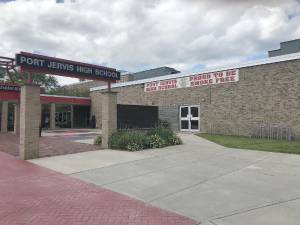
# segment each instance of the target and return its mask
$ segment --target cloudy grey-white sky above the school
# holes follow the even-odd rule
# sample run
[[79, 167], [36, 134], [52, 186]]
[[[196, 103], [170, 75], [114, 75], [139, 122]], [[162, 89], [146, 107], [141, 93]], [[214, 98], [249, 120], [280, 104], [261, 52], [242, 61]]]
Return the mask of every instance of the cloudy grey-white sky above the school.
[[264, 58], [300, 38], [300, 0], [0, 2], [1, 56], [28, 51], [132, 72]]

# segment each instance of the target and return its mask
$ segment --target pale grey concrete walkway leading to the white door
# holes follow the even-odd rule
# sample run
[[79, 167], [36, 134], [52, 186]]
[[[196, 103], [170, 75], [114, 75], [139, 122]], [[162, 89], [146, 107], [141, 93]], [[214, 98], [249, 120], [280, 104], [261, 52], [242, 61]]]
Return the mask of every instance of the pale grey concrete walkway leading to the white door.
[[[299, 155], [229, 149], [190, 134], [182, 139], [181, 146], [128, 153], [125, 161], [115, 151], [110, 165], [74, 165], [70, 175], [204, 224], [299, 224]], [[64, 157], [33, 162], [64, 172], [61, 165], [73, 160]]]

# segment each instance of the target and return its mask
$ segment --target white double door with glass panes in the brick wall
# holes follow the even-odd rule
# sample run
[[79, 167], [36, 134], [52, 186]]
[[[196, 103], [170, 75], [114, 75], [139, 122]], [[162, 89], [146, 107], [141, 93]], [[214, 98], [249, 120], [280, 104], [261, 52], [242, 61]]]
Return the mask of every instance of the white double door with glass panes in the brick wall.
[[180, 130], [181, 131], [200, 131], [198, 105], [181, 106], [180, 107]]

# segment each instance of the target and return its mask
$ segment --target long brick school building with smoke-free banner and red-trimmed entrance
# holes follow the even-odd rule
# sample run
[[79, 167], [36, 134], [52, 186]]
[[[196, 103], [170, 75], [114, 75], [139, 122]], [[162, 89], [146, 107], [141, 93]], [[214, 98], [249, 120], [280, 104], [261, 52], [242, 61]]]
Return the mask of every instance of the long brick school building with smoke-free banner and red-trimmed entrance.
[[[168, 70], [168, 68], [164, 68]], [[149, 74], [149, 73], [148, 73]], [[300, 54], [213, 69], [139, 77], [125, 74], [117, 93], [119, 129], [164, 124], [175, 131], [300, 139]], [[163, 75], [162, 75], [163, 74]], [[90, 97], [40, 95], [44, 128], [102, 127], [107, 85], [83, 82]], [[1, 83], [1, 132], [18, 130], [20, 90]]]

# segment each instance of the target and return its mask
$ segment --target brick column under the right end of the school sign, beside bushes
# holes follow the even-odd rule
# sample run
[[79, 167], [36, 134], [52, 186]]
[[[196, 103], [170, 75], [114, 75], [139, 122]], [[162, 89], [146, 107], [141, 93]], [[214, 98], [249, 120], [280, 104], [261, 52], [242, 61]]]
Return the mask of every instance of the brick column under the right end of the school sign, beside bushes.
[[117, 93], [102, 93], [102, 147], [108, 148], [108, 140], [117, 131]]

